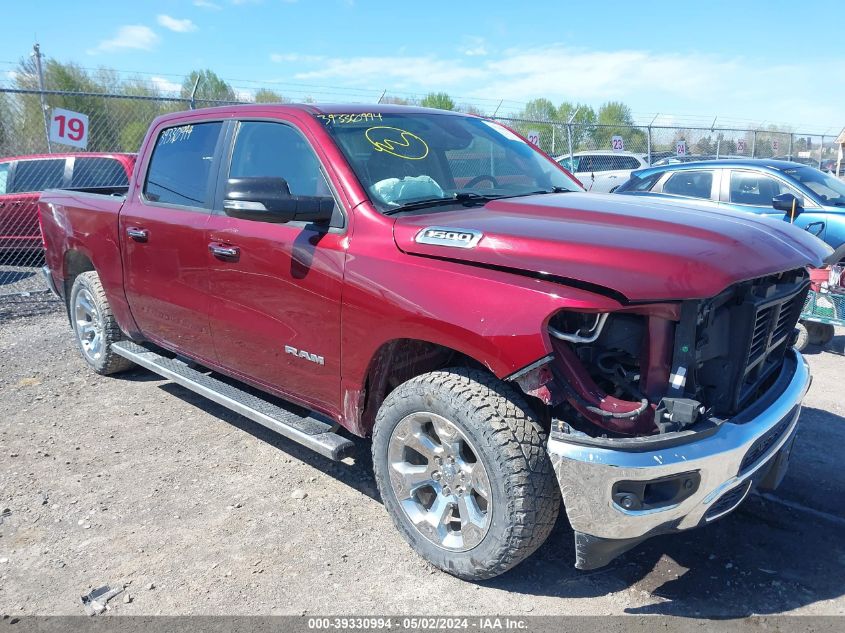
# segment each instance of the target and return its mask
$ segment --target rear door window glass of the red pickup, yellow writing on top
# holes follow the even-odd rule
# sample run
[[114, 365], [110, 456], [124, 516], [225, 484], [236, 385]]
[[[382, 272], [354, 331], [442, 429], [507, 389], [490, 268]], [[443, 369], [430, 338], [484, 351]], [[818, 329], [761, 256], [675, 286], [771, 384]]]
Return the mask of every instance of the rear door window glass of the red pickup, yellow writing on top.
[[147, 202], [208, 208], [210, 176], [223, 123], [165, 128], [156, 138], [144, 181]]

